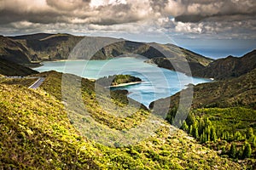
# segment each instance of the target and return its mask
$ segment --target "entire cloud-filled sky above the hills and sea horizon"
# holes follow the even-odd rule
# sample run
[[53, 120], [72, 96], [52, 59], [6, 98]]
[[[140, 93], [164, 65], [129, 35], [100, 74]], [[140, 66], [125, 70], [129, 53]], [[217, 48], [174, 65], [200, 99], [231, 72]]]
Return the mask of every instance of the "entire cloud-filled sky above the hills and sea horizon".
[[255, 8], [255, 0], [2, 0], [0, 31], [153, 30], [188, 37], [255, 38]]

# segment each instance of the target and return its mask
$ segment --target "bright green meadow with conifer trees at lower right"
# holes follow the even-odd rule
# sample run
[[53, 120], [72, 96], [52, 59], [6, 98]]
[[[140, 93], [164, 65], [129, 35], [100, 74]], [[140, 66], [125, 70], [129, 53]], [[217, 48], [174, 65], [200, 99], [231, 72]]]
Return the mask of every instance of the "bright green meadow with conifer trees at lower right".
[[[176, 109], [166, 120], [173, 122]], [[208, 108], [191, 111], [182, 129], [207, 147], [218, 150], [221, 156], [240, 159], [253, 169], [256, 158], [256, 111], [241, 107]], [[255, 164], [254, 164], [255, 165]]]

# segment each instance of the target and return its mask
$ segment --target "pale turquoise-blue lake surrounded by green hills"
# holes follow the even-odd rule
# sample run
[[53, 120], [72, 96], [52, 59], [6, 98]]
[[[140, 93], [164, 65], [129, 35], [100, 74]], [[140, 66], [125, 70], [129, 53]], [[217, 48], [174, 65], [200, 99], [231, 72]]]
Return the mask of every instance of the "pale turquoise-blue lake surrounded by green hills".
[[129, 97], [131, 99], [135, 99], [146, 106], [156, 99], [176, 94], [186, 88], [189, 83], [210, 82], [208, 79], [187, 77], [183, 73], [149, 65], [144, 63], [144, 60], [125, 57], [104, 60], [53, 61], [44, 62], [43, 66], [34, 70], [40, 72], [54, 70], [90, 79], [117, 74], [140, 77], [143, 80], [142, 83], [118, 89], [127, 89], [130, 92]]

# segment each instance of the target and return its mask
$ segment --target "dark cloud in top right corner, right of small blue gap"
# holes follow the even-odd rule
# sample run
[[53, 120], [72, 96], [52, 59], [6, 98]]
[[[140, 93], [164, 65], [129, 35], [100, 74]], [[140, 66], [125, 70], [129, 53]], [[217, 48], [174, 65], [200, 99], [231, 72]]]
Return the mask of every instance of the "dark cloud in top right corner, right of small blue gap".
[[200, 22], [208, 18], [222, 18], [223, 16], [231, 18], [236, 15], [256, 16], [254, 0], [185, 0], [181, 3], [186, 9], [182, 14], [177, 14], [175, 20], [182, 22]]

